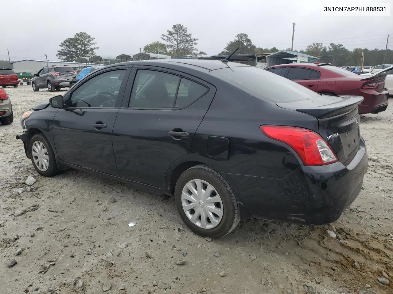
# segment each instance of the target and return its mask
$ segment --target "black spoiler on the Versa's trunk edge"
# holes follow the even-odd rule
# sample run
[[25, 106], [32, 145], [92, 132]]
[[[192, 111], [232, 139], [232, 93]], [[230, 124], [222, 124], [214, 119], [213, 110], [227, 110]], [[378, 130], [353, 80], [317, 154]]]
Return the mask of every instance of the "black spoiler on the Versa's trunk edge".
[[316, 118], [328, 118], [347, 113], [358, 107], [363, 102], [363, 96], [337, 96], [343, 98], [337, 102], [310, 108], [298, 108], [296, 111], [311, 114]]

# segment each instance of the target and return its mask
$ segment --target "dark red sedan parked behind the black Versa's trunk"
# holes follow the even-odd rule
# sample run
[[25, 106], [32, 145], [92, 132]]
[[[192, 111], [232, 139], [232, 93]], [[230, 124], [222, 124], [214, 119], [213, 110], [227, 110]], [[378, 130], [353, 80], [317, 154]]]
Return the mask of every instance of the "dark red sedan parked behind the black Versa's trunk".
[[265, 68], [315, 92], [331, 96], [363, 96], [359, 113], [380, 113], [388, 104], [386, 73], [362, 76], [330, 64], [280, 64]]

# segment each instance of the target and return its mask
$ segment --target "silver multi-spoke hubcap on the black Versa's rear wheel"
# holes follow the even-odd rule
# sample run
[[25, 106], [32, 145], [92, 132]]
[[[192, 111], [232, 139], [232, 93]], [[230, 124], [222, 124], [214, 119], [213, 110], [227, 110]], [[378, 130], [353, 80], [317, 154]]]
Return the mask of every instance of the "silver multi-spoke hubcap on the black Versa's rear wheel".
[[187, 218], [202, 229], [213, 229], [224, 210], [216, 189], [204, 180], [191, 180], [183, 187], [182, 206]]

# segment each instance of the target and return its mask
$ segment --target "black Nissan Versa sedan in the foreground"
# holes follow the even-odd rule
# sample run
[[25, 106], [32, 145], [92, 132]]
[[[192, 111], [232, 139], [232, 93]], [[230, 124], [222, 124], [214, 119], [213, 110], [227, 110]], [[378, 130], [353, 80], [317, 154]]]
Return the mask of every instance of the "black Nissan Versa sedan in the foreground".
[[360, 96], [324, 96], [224, 60], [108, 65], [22, 115], [42, 176], [68, 167], [174, 195], [196, 234], [239, 220], [325, 224], [367, 170]]

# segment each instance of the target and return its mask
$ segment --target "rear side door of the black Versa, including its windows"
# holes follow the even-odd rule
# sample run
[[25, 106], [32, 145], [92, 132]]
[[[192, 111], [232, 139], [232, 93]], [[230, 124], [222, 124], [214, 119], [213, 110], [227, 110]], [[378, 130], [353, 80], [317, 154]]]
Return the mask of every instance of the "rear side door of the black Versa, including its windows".
[[113, 129], [116, 166], [123, 178], [164, 187], [169, 165], [188, 153], [216, 90], [172, 70], [133, 71]]

